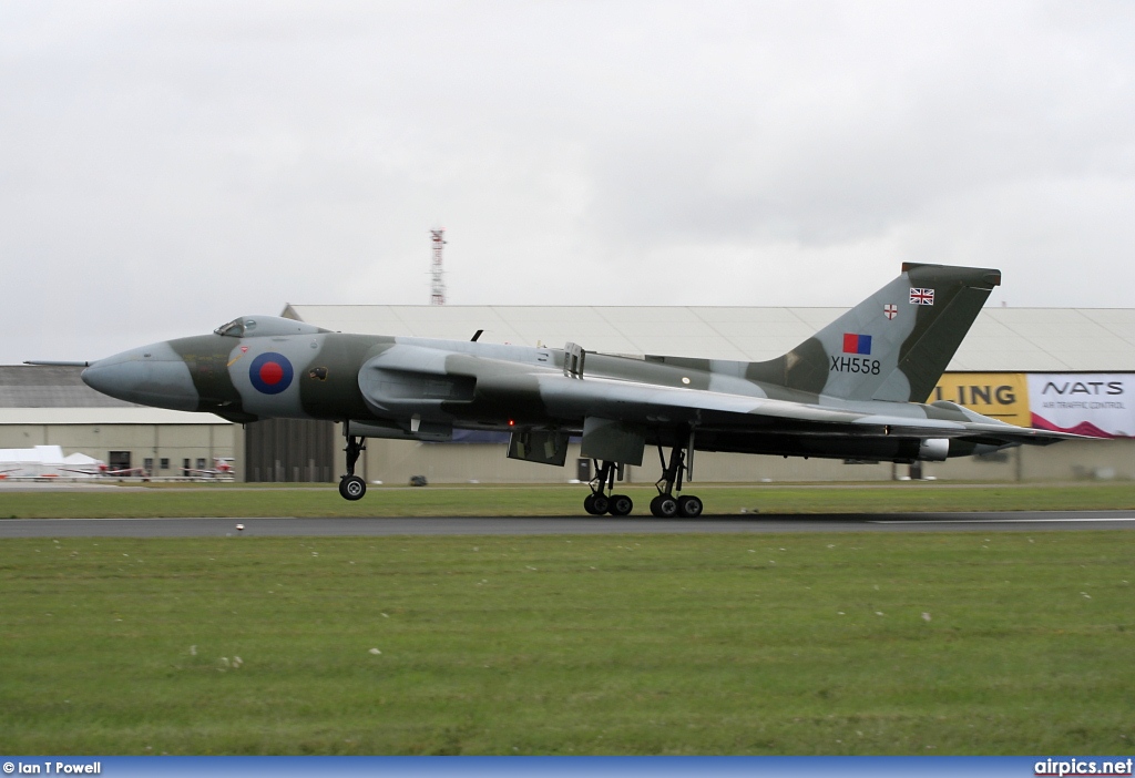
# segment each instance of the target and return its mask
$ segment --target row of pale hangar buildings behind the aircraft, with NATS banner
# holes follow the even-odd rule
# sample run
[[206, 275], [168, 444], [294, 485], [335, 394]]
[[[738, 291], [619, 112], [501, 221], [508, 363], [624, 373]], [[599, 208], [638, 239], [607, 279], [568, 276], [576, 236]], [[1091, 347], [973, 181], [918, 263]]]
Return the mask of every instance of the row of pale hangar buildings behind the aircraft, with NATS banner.
[[[592, 352], [667, 354], [762, 361], [788, 352], [833, 321], [833, 307], [602, 307], [288, 305], [284, 315], [331, 330], [560, 347], [571, 340]], [[124, 347], [133, 344], [123, 344]], [[183, 476], [232, 457], [238, 480], [333, 482], [343, 471], [342, 435], [329, 422], [274, 420], [232, 424], [211, 414], [146, 408], [87, 388], [75, 367], [0, 366], [0, 448], [59, 445], [111, 467], [141, 467]], [[1103, 392], [1093, 395], [1092, 392]], [[1111, 392], [1111, 394], [1108, 394]], [[1118, 394], [1116, 394], [1118, 392]], [[1045, 422], [1049, 398], [1083, 405], [1084, 422], [1107, 440], [1020, 447], [989, 457], [924, 465], [924, 475], [951, 480], [1135, 479], [1135, 310], [985, 308], [962, 341], [931, 399], [1028, 426]], [[1070, 400], [1076, 400], [1070, 401]], [[1101, 401], [1102, 400], [1102, 401]], [[1092, 404], [1108, 405], [1093, 416]], [[1120, 407], [1113, 407], [1120, 406]], [[1051, 414], [1049, 414], [1051, 415]], [[1094, 420], [1094, 421], [1093, 421]], [[1075, 422], [1075, 423], [1074, 423]], [[1088, 429], [1078, 426], [1077, 429]], [[1090, 430], [1091, 431], [1091, 430]], [[563, 468], [505, 457], [491, 435], [453, 443], [371, 439], [360, 460], [368, 481], [563, 483], [580, 472], [578, 443]], [[657, 479], [655, 457], [628, 468], [633, 482]], [[888, 480], [906, 466], [840, 460], [699, 453], [698, 481], [754, 482]]]

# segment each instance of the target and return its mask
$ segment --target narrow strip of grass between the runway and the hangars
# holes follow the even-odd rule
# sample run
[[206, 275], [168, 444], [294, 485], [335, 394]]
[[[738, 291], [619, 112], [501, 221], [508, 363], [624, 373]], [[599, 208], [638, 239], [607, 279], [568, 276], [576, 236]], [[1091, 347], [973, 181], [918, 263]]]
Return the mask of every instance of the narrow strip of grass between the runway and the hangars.
[[[621, 488], [634, 515], [649, 516], [653, 487]], [[924, 510], [1135, 509], [1135, 483], [851, 485], [693, 484], [706, 515], [893, 513]], [[146, 516], [575, 516], [583, 485], [372, 488], [348, 502], [335, 487], [305, 489], [148, 488], [141, 491], [0, 492], [0, 518]]]

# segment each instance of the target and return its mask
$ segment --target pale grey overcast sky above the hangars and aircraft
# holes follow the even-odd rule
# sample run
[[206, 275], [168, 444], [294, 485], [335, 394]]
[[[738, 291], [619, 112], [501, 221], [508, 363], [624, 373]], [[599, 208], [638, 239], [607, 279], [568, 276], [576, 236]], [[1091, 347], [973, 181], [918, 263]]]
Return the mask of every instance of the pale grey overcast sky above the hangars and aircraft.
[[0, 0], [0, 363], [426, 304], [440, 226], [451, 304], [1135, 307], [1135, 3]]

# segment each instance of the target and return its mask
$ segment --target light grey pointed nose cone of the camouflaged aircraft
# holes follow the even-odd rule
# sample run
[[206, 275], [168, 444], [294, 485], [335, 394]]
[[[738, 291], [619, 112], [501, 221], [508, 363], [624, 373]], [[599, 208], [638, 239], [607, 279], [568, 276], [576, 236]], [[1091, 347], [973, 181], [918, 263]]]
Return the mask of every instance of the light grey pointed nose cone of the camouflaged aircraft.
[[83, 382], [103, 395], [174, 411], [196, 411], [197, 390], [190, 367], [169, 344], [134, 348], [99, 360], [82, 373]]

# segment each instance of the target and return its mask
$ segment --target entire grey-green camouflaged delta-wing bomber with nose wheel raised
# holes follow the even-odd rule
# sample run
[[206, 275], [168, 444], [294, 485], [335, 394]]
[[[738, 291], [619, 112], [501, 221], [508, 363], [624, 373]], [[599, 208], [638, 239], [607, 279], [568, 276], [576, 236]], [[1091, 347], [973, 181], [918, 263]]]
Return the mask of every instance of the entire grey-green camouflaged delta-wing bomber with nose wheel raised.
[[923, 403], [1000, 282], [998, 270], [903, 264], [897, 279], [768, 362], [347, 335], [242, 316], [212, 335], [100, 360], [83, 380], [111, 397], [233, 422], [343, 422], [339, 492], [348, 500], [367, 491], [354, 474], [365, 438], [444, 441], [454, 429], [499, 430], [512, 433], [507, 456], [555, 466], [569, 438], [581, 435], [598, 473], [583, 507], [623, 516], [633, 505], [612, 493], [615, 474], [641, 465], [653, 446], [662, 477], [650, 513], [693, 517], [701, 500], [678, 494], [695, 451], [910, 463], [1075, 437]]

